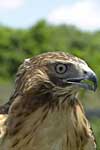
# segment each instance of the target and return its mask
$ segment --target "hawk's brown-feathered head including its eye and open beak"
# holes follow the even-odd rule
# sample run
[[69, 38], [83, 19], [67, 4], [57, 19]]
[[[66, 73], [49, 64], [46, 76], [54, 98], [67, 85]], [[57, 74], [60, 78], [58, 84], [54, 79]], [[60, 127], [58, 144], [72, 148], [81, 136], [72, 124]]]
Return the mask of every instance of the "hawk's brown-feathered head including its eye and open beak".
[[85, 61], [64, 52], [49, 52], [26, 59], [16, 78], [17, 92], [34, 95], [75, 95], [80, 88], [95, 91], [96, 75]]

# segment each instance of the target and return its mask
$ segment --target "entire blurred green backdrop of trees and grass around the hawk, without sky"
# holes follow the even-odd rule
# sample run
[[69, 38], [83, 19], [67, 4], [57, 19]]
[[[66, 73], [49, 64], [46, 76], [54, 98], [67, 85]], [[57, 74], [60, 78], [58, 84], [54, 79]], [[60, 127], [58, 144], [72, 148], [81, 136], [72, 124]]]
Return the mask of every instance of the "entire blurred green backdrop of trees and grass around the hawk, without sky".
[[[48, 51], [64, 51], [84, 59], [98, 77], [98, 90], [81, 91], [85, 109], [98, 111], [89, 117], [100, 149], [100, 31], [83, 32], [75, 26], [51, 25], [45, 20], [28, 29], [0, 26], [0, 103], [9, 100], [15, 74], [25, 58]], [[92, 116], [92, 113], [91, 113]], [[94, 115], [93, 115], [94, 116]], [[99, 117], [97, 117], [99, 116]]]

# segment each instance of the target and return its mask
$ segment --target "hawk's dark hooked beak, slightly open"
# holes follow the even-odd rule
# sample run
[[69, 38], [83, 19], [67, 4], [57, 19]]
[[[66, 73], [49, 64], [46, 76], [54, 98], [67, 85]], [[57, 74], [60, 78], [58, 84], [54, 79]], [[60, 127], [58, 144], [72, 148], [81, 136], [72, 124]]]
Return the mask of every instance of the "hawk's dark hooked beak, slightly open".
[[[91, 81], [91, 83], [88, 83], [87, 81]], [[67, 79], [67, 83], [92, 91], [96, 91], [97, 89], [97, 77], [94, 72], [87, 72], [84, 77]]]

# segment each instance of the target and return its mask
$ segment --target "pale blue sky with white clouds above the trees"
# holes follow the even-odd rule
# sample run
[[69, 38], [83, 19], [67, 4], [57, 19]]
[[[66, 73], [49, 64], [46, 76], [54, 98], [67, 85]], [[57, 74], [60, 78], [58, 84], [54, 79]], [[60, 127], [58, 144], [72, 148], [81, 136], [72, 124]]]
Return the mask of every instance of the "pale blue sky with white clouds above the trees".
[[0, 0], [0, 24], [29, 28], [40, 19], [100, 30], [100, 0]]

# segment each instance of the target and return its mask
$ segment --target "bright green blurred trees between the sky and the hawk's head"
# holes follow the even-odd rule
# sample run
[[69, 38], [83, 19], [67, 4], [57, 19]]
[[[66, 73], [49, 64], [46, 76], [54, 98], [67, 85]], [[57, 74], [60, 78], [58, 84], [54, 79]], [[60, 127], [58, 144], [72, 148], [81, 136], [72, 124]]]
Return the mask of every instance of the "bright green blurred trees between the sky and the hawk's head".
[[12, 79], [27, 57], [65, 51], [83, 58], [100, 77], [100, 32], [82, 32], [74, 26], [54, 26], [41, 20], [26, 30], [0, 27], [0, 80]]

